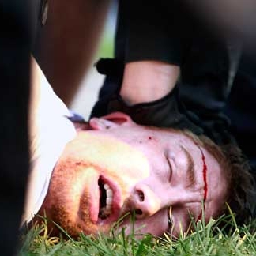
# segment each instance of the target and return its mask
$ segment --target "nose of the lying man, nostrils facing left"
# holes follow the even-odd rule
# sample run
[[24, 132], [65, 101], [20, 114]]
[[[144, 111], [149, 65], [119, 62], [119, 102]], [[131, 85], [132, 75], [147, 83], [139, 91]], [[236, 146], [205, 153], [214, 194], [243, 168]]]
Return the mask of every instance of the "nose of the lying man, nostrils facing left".
[[160, 198], [145, 184], [137, 184], [134, 187], [133, 206], [137, 219], [152, 216], [160, 210]]

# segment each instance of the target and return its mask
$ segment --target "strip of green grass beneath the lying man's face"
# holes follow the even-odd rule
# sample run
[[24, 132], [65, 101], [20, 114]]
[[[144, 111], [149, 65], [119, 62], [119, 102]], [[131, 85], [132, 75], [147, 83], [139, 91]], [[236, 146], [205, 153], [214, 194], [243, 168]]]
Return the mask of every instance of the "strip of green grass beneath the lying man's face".
[[[223, 228], [220, 228], [220, 224]], [[227, 224], [228, 232], [224, 230]], [[125, 235], [124, 230], [117, 235], [99, 235], [97, 238], [83, 235], [77, 240], [68, 237], [49, 236], [46, 224], [34, 225], [26, 235], [21, 237], [19, 256], [80, 256], [80, 255], [170, 255], [170, 256], [225, 256], [225, 255], [256, 255], [256, 234], [252, 232], [255, 224], [237, 226], [233, 216], [222, 216], [219, 220], [210, 220], [205, 225], [198, 221], [194, 232], [183, 233], [175, 241], [169, 235], [155, 238], [144, 235]]]

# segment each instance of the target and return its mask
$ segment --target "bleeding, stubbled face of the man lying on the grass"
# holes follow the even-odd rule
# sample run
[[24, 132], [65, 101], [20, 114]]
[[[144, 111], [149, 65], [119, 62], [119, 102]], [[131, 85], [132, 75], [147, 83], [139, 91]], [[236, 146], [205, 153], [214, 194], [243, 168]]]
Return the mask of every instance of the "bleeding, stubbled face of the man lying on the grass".
[[[224, 204], [220, 165], [185, 134], [138, 126], [121, 113], [91, 119], [90, 129], [66, 145], [40, 211], [70, 235], [108, 232], [126, 213], [135, 214], [138, 233], [177, 235], [191, 215], [200, 218], [204, 198], [206, 220]], [[130, 216], [123, 227], [131, 232]]]

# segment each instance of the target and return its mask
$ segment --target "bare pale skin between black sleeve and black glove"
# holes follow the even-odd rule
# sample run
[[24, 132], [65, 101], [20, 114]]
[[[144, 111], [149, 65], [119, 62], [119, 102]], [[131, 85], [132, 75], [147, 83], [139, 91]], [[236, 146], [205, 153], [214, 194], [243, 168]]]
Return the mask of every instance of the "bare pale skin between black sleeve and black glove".
[[179, 66], [159, 61], [129, 62], [125, 66], [120, 96], [128, 105], [159, 100], [175, 88]]

